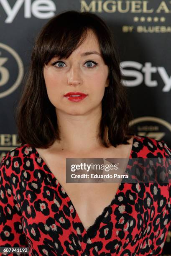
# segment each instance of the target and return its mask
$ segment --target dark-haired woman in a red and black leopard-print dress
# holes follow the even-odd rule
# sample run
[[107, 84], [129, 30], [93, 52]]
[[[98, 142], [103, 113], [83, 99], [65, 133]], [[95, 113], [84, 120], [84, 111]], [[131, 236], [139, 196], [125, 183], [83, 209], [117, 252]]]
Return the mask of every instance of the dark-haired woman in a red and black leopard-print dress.
[[66, 158], [171, 157], [163, 141], [129, 130], [119, 63], [97, 15], [68, 11], [42, 29], [18, 105], [21, 146], [0, 167], [1, 246], [36, 256], [161, 253], [168, 184], [65, 180]]

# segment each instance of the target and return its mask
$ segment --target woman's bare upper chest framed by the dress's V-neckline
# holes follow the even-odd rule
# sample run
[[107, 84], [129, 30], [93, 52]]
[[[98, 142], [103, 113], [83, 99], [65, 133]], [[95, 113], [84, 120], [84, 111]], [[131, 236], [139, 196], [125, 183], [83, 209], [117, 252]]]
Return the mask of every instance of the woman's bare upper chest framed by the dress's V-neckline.
[[127, 150], [122, 152], [114, 151], [112, 149], [95, 152], [87, 155], [62, 155], [62, 154], [48, 154], [45, 151], [39, 150], [43, 160], [48, 165], [48, 168], [54, 174], [61, 186], [66, 191], [72, 204], [75, 207], [77, 214], [84, 226], [87, 228], [94, 224], [96, 218], [102, 214], [105, 207], [110, 205], [114, 199], [117, 190], [120, 186], [118, 183], [66, 183], [66, 158], [114, 158], [114, 157], [128, 157], [130, 145]]

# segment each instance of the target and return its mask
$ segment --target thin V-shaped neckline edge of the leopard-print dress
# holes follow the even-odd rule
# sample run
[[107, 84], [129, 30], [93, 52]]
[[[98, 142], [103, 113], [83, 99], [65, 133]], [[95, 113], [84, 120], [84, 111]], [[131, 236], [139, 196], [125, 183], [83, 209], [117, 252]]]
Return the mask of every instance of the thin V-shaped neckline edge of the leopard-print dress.
[[[130, 155], [129, 155], [129, 158], [128, 158], [128, 163], [129, 163], [131, 154], [132, 154], [132, 152], [133, 152], [133, 145], [134, 145], [134, 142], [135, 142], [135, 136], [133, 135], [133, 143], [132, 143], [132, 148], [131, 148]], [[28, 144], [28, 145], [29, 145], [29, 144]], [[119, 185], [119, 187], [118, 187], [118, 189], [117, 189], [117, 192], [115, 193], [115, 196], [113, 197], [112, 201], [110, 202], [110, 204], [107, 205], [107, 206], [103, 209], [102, 213], [97, 216], [97, 218], [96, 218], [95, 221], [94, 221], [94, 224], [92, 224], [91, 226], [89, 226], [89, 228], [87, 228], [87, 230], [86, 230], [86, 228], [84, 228], [84, 225], [82, 224], [81, 219], [79, 218], [79, 215], [78, 215], [78, 213], [77, 213], [77, 211], [76, 211], [76, 209], [75, 209], [75, 207], [74, 207], [74, 205], [73, 205], [73, 203], [72, 203], [72, 201], [71, 201], [69, 195], [66, 193], [64, 187], [62, 187], [62, 185], [60, 184], [60, 182], [58, 181], [58, 179], [56, 179], [56, 177], [54, 176], [53, 172], [51, 172], [51, 170], [48, 168], [48, 165], [47, 165], [46, 162], [43, 160], [43, 158], [40, 156], [40, 154], [38, 153], [38, 151], [36, 150], [36, 148], [35, 148], [35, 147], [32, 147], [32, 148], [34, 148], [34, 150], [35, 150], [36, 154], [38, 155], [38, 157], [41, 158], [43, 169], [44, 169], [44, 166], [46, 166], [46, 169], [44, 169], [44, 170], [45, 170], [46, 172], [48, 171], [48, 173], [51, 174], [52, 179], [54, 179], [54, 180], [56, 181], [56, 184], [58, 184], [58, 190], [59, 190], [59, 191], [61, 190], [61, 191], [65, 192], [64, 200], [66, 200], [66, 198], [68, 198], [68, 201], [66, 200], [66, 202], [67, 202], [67, 203], [70, 202], [70, 204], [71, 204], [71, 206], [73, 207], [73, 210], [74, 210], [74, 212], [75, 212], [75, 218], [77, 219], [77, 222], [79, 222], [79, 224], [82, 226], [82, 230], [84, 230], [83, 233], [85, 233], [85, 234], [87, 235], [87, 238], [89, 239], [89, 243], [92, 243], [92, 238], [89, 238], [89, 234], [88, 234], [87, 231], [89, 230], [89, 228], [91, 228], [91, 227], [95, 224], [97, 218], [100, 217], [100, 216], [103, 214], [105, 208], [106, 208], [106, 207], [110, 207], [110, 206], [112, 205], [112, 202], [113, 202], [113, 200], [115, 199], [116, 195], [120, 192], [120, 187], [122, 186], [122, 181], [121, 181], [121, 183], [120, 183], [120, 185]], [[126, 169], [127, 169], [127, 167], [128, 167], [128, 164], [127, 164], [127, 166], [126, 166]], [[125, 170], [126, 170], [126, 169], [125, 169]], [[123, 180], [123, 179], [122, 179], [122, 180]], [[72, 217], [72, 215], [71, 215], [71, 217]], [[105, 217], [105, 216], [104, 216], [104, 217]], [[102, 220], [104, 219], [104, 217], [102, 218]], [[74, 220], [75, 218], [72, 217], [72, 219], [73, 219], [74, 222], [75, 222], [75, 220]], [[100, 221], [100, 223], [102, 222], [102, 220]], [[96, 231], [97, 231], [97, 230], [96, 230]]]

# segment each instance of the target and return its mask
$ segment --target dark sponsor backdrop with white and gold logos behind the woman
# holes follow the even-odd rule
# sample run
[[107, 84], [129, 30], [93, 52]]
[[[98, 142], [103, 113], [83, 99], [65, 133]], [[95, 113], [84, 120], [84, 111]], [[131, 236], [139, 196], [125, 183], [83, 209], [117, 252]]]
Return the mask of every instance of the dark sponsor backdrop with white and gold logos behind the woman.
[[[88, 11], [103, 18], [120, 49], [136, 134], [171, 147], [170, 0], [0, 0], [0, 160], [17, 144], [14, 111], [34, 39], [54, 15]], [[24, 120], [23, 120], [24, 121]], [[171, 254], [171, 232], [163, 255]]]

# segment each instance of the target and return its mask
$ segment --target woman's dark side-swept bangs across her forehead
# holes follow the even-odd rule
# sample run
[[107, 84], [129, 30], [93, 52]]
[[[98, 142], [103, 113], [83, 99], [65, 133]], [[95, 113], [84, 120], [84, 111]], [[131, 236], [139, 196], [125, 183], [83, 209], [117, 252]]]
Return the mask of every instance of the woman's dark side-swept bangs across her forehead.
[[49, 29], [46, 26], [40, 37], [42, 40], [38, 42], [41, 49], [37, 52], [37, 59], [40, 60], [41, 56], [42, 67], [55, 56], [59, 59], [67, 59], [87, 38], [88, 31], [88, 26], [79, 25], [76, 28], [74, 23], [70, 24], [67, 31], [65, 26], [58, 28], [56, 25], [55, 29]]

